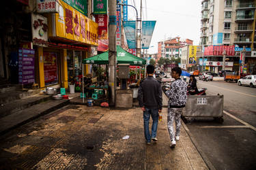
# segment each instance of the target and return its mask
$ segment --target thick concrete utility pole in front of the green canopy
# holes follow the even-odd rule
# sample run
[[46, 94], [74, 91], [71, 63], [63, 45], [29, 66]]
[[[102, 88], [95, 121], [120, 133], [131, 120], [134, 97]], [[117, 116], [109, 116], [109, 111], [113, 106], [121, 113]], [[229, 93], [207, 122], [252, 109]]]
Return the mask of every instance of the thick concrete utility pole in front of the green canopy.
[[115, 86], [116, 86], [116, 49], [115, 49], [115, 31], [116, 31], [116, 12], [117, 0], [109, 0], [109, 87], [111, 95], [109, 105], [115, 105]]

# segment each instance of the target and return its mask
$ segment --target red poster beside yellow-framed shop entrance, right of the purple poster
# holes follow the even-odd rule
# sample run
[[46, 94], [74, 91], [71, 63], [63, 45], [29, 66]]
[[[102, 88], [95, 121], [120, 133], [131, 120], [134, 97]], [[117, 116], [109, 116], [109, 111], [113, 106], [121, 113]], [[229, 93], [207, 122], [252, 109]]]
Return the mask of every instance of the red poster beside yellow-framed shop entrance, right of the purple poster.
[[44, 83], [58, 82], [57, 52], [44, 52]]

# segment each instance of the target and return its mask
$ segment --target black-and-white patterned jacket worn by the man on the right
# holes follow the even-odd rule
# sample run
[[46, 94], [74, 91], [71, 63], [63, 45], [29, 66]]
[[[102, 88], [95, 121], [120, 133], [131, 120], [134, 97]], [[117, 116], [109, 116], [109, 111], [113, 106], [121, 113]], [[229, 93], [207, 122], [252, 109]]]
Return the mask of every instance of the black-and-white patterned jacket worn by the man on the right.
[[182, 108], [186, 105], [187, 97], [187, 84], [183, 80], [176, 79], [171, 83], [170, 90], [165, 92], [169, 98], [168, 105], [170, 108]]

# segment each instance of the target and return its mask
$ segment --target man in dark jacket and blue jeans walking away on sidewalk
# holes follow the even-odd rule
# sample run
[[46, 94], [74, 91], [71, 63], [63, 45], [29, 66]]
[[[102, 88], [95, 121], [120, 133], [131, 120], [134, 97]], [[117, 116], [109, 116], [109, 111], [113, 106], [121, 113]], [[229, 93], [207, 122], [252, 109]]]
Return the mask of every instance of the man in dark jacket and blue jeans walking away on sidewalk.
[[[154, 66], [147, 65], [147, 78], [141, 80], [138, 92], [139, 106], [143, 111], [144, 135], [147, 144], [157, 141], [156, 132], [158, 126], [159, 112], [162, 112], [162, 88], [160, 82], [153, 78]], [[152, 133], [150, 134], [149, 124], [152, 117]]]

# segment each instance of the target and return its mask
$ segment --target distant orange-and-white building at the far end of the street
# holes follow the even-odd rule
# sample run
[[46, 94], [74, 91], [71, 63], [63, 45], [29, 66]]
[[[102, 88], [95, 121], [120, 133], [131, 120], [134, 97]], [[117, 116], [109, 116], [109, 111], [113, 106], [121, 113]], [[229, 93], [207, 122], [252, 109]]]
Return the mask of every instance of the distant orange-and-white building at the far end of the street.
[[182, 56], [182, 47], [193, 45], [193, 40], [180, 40], [180, 37], [166, 39], [158, 42], [158, 58], [178, 58]]

